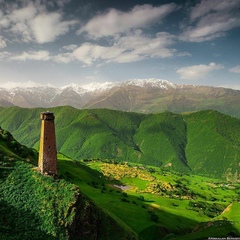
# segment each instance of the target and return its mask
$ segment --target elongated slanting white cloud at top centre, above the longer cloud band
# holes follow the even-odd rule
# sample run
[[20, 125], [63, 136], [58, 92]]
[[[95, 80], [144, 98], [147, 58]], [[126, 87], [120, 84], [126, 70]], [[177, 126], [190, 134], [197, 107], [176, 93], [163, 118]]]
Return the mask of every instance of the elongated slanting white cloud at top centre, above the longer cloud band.
[[145, 28], [152, 23], [159, 22], [175, 8], [175, 4], [160, 7], [146, 4], [135, 6], [130, 12], [110, 9], [107, 13], [92, 18], [77, 33], [87, 32], [92, 38], [114, 36], [117, 33]]

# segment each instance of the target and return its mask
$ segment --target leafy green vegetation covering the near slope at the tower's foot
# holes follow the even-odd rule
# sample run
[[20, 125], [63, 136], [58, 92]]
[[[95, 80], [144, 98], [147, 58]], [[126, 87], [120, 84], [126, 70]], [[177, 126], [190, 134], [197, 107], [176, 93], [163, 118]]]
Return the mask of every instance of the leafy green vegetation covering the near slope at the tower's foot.
[[36, 151], [2, 129], [0, 156], [0, 238], [66, 239], [77, 187], [38, 174]]

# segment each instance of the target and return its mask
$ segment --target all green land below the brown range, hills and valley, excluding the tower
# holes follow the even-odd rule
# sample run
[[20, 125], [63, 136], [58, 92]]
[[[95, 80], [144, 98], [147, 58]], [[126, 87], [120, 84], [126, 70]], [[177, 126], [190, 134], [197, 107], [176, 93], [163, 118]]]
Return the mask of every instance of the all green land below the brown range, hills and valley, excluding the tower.
[[238, 118], [51, 108], [54, 180], [36, 172], [43, 110], [0, 108], [1, 239], [240, 236]]

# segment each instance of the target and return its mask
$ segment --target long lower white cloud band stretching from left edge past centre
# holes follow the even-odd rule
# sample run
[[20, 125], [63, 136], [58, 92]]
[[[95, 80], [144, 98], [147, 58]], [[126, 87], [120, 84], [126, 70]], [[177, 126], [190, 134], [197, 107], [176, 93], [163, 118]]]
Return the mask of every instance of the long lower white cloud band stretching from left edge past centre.
[[85, 65], [110, 62], [128, 63], [149, 58], [168, 58], [181, 54], [171, 48], [174, 41], [175, 37], [166, 32], [159, 32], [155, 37], [151, 37], [144, 35], [142, 31], [135, 31], [124, 37], [116, 38], [115, 43], [110, 46], [86, 42], [79, 47], [74, 44], [64, 46], [61, 48], [64, 52], [57, 55], [50, 54], [48, 51], [28, 51], [22, 54], [4, 55], [1, 60], [52, 60], [58, 63], [75, 61]]

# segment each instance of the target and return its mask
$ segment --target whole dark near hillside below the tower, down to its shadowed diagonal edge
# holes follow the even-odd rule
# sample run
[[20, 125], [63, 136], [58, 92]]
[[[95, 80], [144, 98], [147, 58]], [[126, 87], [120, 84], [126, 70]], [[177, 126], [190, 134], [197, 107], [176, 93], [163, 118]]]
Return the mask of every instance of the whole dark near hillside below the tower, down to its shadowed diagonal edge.
[[1, 240], [137, 239], [76, 185], [40, 175], [36, 158], [35, 150], [0, 130]]

